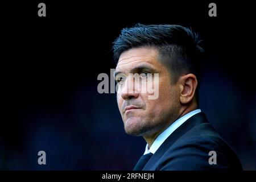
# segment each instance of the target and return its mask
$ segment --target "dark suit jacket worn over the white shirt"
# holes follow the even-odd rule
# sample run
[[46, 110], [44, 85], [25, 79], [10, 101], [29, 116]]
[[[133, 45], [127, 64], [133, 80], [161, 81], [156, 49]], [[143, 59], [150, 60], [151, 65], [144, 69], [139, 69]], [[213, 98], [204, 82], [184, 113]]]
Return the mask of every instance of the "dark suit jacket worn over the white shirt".
[[[209, 164], [216, 151], [217, 164]], [[214, 130], [204, 113], [193, 115], [158, 148], [143, 171], [150, 170], [242, 170], [232, 148]]]

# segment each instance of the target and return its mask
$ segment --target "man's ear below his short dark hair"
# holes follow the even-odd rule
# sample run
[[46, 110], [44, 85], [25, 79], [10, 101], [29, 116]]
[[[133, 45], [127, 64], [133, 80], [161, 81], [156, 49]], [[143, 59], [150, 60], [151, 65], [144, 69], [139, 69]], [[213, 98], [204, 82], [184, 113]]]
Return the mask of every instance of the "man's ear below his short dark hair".
[[180, 83], [180, 103], [188, 104], [195, 96], [197, 79], [196, 76], [189, 73], [179, 78]]

